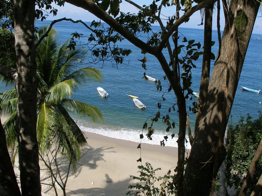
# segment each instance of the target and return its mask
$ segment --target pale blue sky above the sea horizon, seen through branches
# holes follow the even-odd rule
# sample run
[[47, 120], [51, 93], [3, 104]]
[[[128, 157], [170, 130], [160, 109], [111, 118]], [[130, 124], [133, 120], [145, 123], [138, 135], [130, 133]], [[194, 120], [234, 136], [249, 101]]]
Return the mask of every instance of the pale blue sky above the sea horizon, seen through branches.
[[[137, 3], [140, 6], [143, 6], [143, 4], [149, 5], [152, 3], [151, 0], [134, 0], [133, 2]], [[143, 3], [141, 3], [143, 2]], [[159, 1], [160, 2], [160, 1]], [[157, 2], [157, 3], [159, 3]], [[84, 22], [91, 22], [93, 20], [97, 20], [96, 16], [93, 14], [89, 13], [88, 11], [76, 7], [74, 5], [71, 5], [69, 3], [65, 3], [64, 7], [59, 7], [56, 5], [53, 5], [56, 9], [58, 9], [58, 13], [56, 16], [48, 16], [47, 20], [55, 20], [55, 19], [60, 19], [60, 18], [71, 18], [73, 20], [82, 20]], [[123, 11], [124, 13], [130, 12], [130, 13], [137, 13], [138, 9], [135, 8], [133, 5], [125, 2], [123, 0], [123, 3], [120, 4], [120, 11]], [[167, 8], [164, 8], [161, 10], [161, 13], [164, 14], [165, 16], [172, 16], [175, 13], [175, 6], [170, 6]], [[180, 13], [182, 16], [183, 12]], [[161, 16], [161, 18], [166, 18], [165, 16]], [[213, 19], [214, 19], [214, 24], [213, 24], [213, 29], [216, 30], [216, 18], [217, 18], [217, 11], [213, 14]], [[166, 24], [166, 20], [162, 20], [163, 24]], [[199, 25], [201, 23], [201, 17], [200, 17], [200, 11], [197, 11], [194, 13], [191, 17], [190, 20], [186, 23], [183, 23], [181, 27], [186, 27], [186, 28], [200, 28], [204, 29], [203, 25]], [[225, 19], [224, 19], [224, 14], [223, 10], [221, 9], [220, 11], [220, 30], [223, 31], [224, 29], [224, 24], [225, 24]], [[156, 24], [158, 25], [158, 24]], [[262, 17], [261, 17], [261, 9], [258, 13], [258, 16], [256, 18], [256, 22], [254, 25], [253, 33], [257, 34], [262, 34]]]

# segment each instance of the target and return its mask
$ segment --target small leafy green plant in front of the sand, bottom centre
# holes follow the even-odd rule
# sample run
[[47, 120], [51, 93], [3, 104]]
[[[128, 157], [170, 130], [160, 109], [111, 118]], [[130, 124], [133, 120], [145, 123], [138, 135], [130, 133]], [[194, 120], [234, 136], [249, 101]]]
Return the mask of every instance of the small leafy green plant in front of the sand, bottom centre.
[[163, 180], [163, 178], [167, 178], [166, 175], [164, 177], [155, 176], [155, 172], [161, 170], [161, 168], [153, 169], [151, 164], [148, 162], [146, 162], [145, 167], [143, 165], [139, 165], [137, 168], [140, 169], [140, 171], [138, 171], [138, 173], [140, 173], [139, 177], [130, 176], [130, 178], [139, 180], [140, 183], [137, 183], [136, 185], [129, 185], [128, 188], [131, 189], [131, 191], [128, 191], [126, 195], [140, 196], [142, 193], [146, 196], [160, 195], [160, 189], [155, 187], [154, 183], [156, 181]]

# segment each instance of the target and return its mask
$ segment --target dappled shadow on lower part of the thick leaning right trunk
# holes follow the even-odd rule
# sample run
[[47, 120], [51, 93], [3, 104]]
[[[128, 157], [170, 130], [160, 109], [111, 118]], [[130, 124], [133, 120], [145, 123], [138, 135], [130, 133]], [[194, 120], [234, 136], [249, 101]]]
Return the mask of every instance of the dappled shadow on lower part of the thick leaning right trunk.
[[199, 97], [203, 105], [201, 114], [196, 117], [195, 137], [185, 172], [190, 188], [198, 195], [209, 194], [204, 187], [211, 187], [213, 174], [226, 157], [223, 139], [236, 93], [236, 78], [240, 75], [237, 66], [227, 65], [226, 61], [217, 62], [206, 96]]

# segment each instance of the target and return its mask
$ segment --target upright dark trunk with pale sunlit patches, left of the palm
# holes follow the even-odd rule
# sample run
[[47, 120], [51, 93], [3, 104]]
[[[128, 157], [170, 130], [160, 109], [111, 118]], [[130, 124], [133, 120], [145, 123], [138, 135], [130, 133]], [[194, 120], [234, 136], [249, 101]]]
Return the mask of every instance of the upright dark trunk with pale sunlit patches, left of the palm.
[[41, 195], [36, 139], [37, 83], [34, 45], [35, 1], [13, 0], [18, 72], [18, 147], [22, 195]]

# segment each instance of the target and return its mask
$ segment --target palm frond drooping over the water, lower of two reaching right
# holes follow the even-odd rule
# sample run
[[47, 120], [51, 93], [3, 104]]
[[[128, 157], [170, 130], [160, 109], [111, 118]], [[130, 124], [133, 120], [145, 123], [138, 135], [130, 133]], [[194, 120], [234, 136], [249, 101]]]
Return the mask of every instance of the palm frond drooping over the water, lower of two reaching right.
[[103, 115], [100, 110], [94, 106], [90, 106], [86, 103], [71, 100], [71, 99], [64, 99], [62, 105], [67, 111], [72, 113], [77, 113], [79, 116], [87, 117], [90, 116], [94, 122], [102, 122]]

